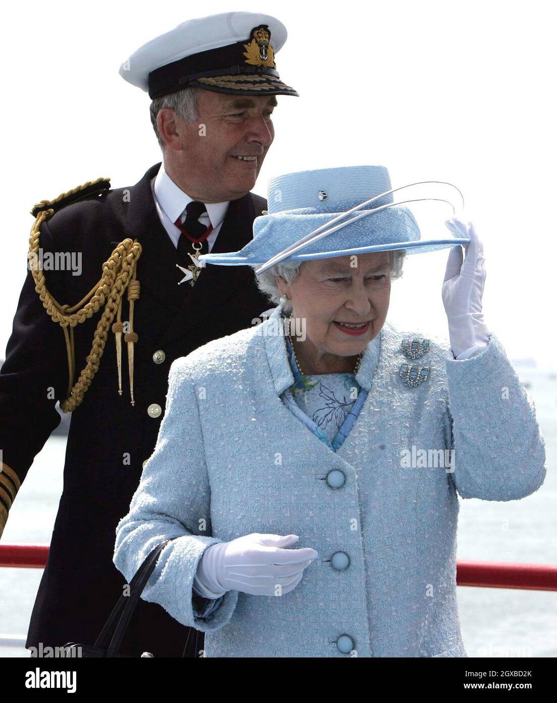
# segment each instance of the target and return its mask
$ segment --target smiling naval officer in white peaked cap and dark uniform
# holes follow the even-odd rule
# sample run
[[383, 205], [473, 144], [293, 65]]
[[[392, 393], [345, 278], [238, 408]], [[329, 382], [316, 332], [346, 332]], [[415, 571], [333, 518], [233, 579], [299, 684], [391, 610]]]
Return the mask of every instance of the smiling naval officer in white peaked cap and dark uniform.
[[[149, 41], [120, 74], [152, 100], [161, 163], [130, 188], [89, 181], [32, 210], [29, 262], [71, 252], [83, 266], [80, 276], [28, 266], [0, 373], [0, 531], [60, 423], [56, 401], [72, 413], [27, 647], [93, 645], [126, 586], [114, 534], [156, 443], [170, 364], [269, 307], [250, 271], [203, 268], [198, 257], [241, 249], [267, 207], [250, 191], [274, 138], [276, 96], [297, 95], [276, 70], [285, 41], [276, 18], [244, 12]], [[195, 656], [197, 637], [140, 600], [120, 651]]]

